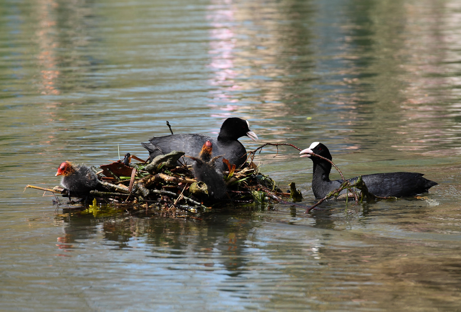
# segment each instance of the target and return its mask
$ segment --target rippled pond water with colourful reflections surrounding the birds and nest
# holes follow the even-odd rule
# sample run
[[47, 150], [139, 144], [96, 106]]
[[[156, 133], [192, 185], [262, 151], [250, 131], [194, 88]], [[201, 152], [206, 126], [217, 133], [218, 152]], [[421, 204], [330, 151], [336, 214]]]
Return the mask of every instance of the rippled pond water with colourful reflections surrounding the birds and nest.
[[[459, 1], [0, 3], [0, 311], [459, 310]], [[439, 185], [203, 220], [95, 217], [23, 192], [57, 185], [64, 160], [145, 158], [165, 120], [216, 135], [228, 116], [262, 142], [326, 144], [346, 177]], [[313, 203], [312, 162], [279, 151], [262, 171]]]

